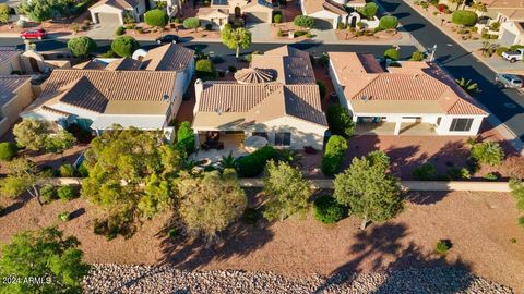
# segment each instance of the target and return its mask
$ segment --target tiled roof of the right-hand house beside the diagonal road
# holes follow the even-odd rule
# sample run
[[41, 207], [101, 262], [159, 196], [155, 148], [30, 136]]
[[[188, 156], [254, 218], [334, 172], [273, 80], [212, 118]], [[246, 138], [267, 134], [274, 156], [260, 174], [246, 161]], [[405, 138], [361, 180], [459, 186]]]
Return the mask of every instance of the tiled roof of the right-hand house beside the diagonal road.
[[[402, 68], [391, 68], [391, 72], [378, 72], [380, 64], [374, 59], [376, 64], [372, 64], [369, 57], [364, 58], [354, 52], [329, 54], [346, 99], [355, 101], [352, 102], [355, 105], [367, 102], [366, 111], [377, 105], [377, 111], [383, 111], [382, 107], [388, 106], [401, 112], [402, 109], [409, 109], [409, 113], [427, 113], [433, 112], [434, 110], [430, 109], [438, 106], [441, 113], [487, 115], [487, 112], [434, 63], [403, 62]], [[395, 112], [398, 112], [396, 110]]]

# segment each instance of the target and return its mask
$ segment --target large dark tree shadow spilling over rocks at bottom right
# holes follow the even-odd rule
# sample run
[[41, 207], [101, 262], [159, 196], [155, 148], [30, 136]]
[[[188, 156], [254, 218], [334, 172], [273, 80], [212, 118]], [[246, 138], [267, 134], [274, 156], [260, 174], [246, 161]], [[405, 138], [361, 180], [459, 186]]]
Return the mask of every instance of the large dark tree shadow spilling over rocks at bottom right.
[[[364, 267], [372, 272], [388, 272], [386, 280], [373, 293], [457, 293], [471, 285], [473, 275], [467, 264], [428, 254], [413, 242], [406, 247], [402, 240], [407, 235], [402, 223], [373, 224], [357, 232], [357, 243], [348, 249], [357, 257], [334, 270], [314, 293], [350, 284]], [[384, 260], [392, 258], [393, 262]]]

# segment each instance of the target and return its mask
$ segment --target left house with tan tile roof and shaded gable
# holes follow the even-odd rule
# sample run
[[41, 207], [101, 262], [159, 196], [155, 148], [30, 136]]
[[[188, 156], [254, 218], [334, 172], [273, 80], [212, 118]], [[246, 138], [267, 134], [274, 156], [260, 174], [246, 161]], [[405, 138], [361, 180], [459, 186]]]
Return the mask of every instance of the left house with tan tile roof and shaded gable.
[[166, 45], [140, 60], [95, 59], [55, 70], [21, 117], [62, 127], [76, 123], [97, 133], [114, 124], [170, 132], [193, 69], [192, 50]]

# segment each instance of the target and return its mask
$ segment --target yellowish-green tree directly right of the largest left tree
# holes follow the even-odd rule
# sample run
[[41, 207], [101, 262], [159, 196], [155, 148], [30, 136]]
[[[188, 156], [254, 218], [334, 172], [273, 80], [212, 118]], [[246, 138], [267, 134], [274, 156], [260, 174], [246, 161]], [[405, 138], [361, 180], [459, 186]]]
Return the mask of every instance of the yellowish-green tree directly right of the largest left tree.
[[183, 172], [178, 194], [179, 213], [188, 230], [202, 233], [210, 241], [238, 219], [248, 205], [248, 198], [231, 169], [224, 170], [223, 175], [212, 171], [201, 177]]

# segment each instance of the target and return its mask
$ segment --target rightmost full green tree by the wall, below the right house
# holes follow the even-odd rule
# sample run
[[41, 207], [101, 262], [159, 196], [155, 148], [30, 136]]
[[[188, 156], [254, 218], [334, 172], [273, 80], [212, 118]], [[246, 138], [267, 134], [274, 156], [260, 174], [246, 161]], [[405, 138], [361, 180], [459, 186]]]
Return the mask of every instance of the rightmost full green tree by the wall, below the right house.
[[334, 185], [335, 198], [362, 219], [362, 230], [369, 221], [386, 221], [403, 208], [398, 179], [388, 174], [383, 162], [373, 163], [371, 158], [354, 158], [352, 166], [336, 175]]

